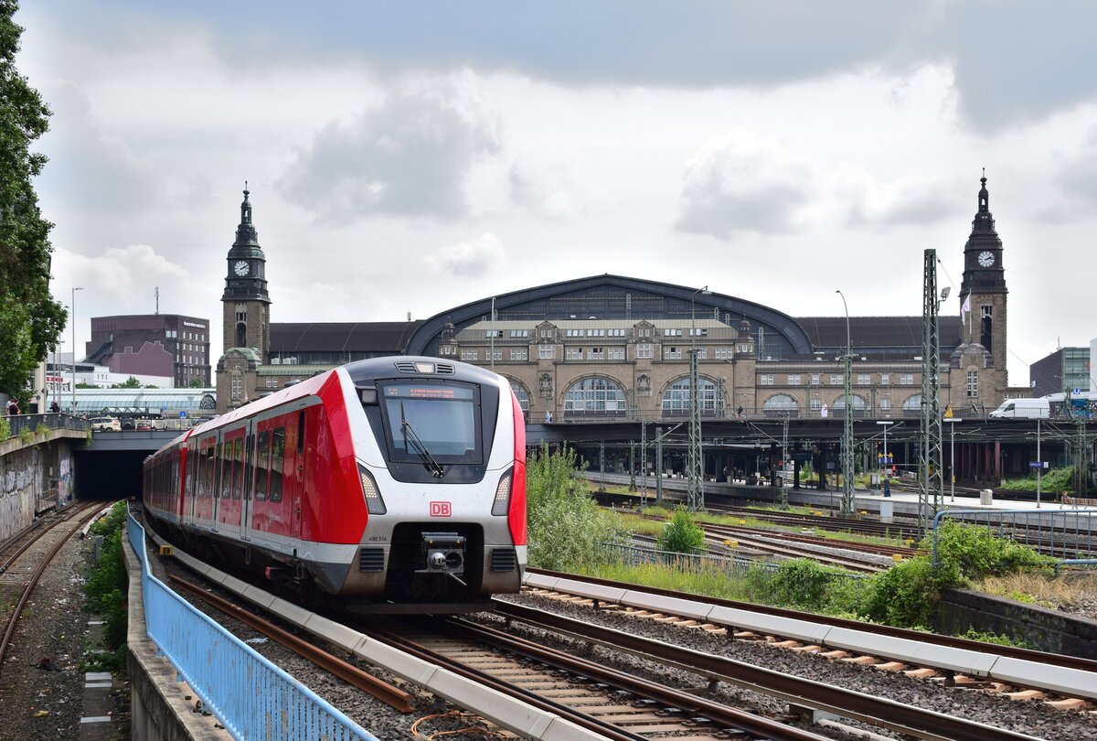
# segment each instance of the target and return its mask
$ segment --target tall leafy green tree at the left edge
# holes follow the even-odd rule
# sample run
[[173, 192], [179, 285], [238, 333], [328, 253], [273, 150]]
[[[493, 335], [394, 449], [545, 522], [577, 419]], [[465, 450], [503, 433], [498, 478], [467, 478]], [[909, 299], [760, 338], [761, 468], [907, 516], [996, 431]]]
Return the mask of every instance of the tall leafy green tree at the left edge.
[[25, 395], [66, 317], [49, 295], [53, 224], [38, 213], [31, 182], [46, 164], [31, 144], [48, 128], [49, 109], [15, 68], [18, 9], [15, 0], [0, 0], [0, 391]]

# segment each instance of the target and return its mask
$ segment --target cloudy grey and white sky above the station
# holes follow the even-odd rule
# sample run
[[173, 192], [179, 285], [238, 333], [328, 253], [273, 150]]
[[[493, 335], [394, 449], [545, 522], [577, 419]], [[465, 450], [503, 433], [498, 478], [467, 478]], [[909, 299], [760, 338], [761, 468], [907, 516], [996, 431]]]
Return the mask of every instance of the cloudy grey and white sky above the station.
[[1097, 337], [1089, 2], [23, 4], [81, 348], [157, 285], [219, 337], [245, 180], [276, 322], [603, 272], [916, 315], [924, 249], [959, 287], [984, 167], [1010, 382]]

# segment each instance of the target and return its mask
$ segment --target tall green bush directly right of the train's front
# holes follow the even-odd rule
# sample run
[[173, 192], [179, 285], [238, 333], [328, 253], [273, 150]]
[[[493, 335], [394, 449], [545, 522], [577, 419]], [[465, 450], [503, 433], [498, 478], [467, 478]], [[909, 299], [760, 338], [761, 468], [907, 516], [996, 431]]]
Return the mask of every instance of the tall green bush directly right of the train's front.
[[546, 446], [525, 464], [530, 565], [579, 571], [599, 560], [600, 543], [622, 534], [613, 516], [591, 498], [574, 450], [550, 453]]

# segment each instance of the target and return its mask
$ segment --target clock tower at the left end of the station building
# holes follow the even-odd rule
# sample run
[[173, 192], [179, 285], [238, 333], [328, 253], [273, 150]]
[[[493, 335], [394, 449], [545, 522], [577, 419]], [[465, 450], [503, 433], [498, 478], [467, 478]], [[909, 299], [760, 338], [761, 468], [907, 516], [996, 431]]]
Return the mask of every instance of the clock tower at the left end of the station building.
[[251, 348], [267, 362], [270, 351], [271, 297], [267, 293], [267, 257], [259, 247], [259, 234], [251, 223], [250, 191], [245, 184], [240, 204], [240, 225], [236, 242], [228, 250], [228, 272], [225, 277], [224, 348]]

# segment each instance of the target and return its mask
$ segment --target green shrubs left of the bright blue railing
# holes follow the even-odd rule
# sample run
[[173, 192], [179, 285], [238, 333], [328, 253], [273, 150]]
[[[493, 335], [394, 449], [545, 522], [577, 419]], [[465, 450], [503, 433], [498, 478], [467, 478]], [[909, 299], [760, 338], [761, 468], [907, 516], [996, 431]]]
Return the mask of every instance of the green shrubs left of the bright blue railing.
[[103, 617], [103, 644], [111, 653], [101, 664], [108, 669], [120, 669], [125, 662], [129, 583], [122, 553], [125, 521], [126, 506], [118, 503], [91, 527], [93, 535], [103, 537], [103, 548], [99, 562], [88, 569], [83, 587], [87, 609]]

